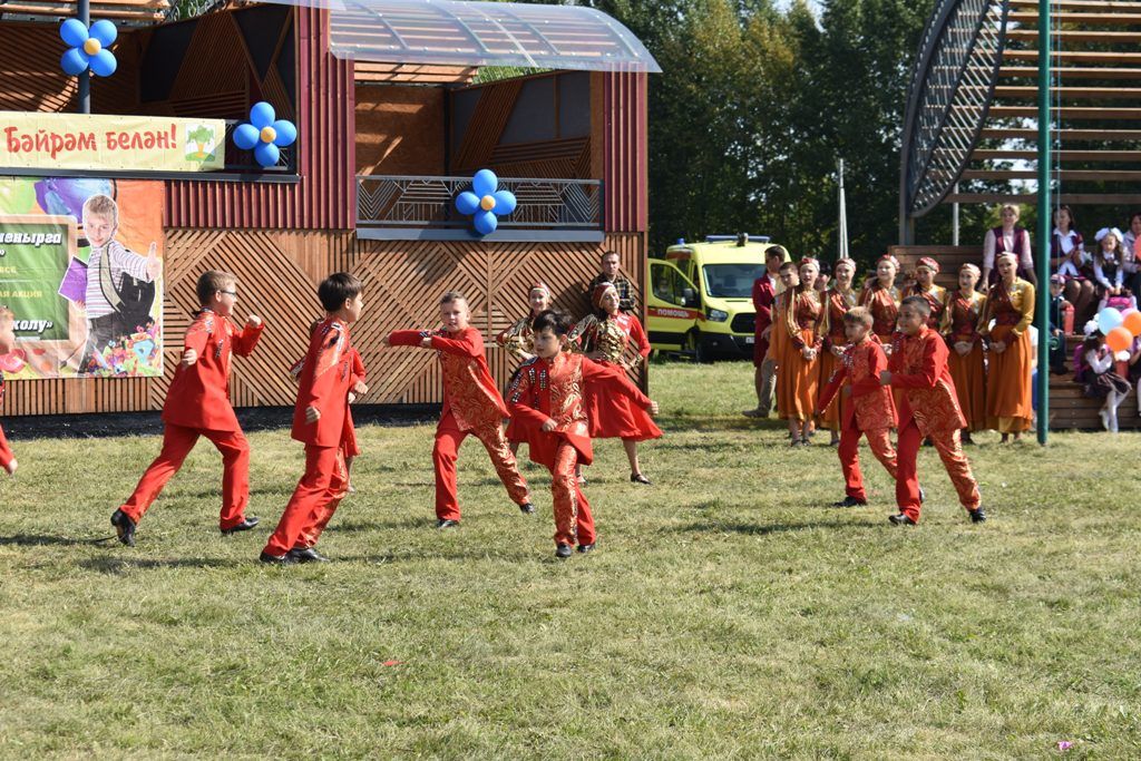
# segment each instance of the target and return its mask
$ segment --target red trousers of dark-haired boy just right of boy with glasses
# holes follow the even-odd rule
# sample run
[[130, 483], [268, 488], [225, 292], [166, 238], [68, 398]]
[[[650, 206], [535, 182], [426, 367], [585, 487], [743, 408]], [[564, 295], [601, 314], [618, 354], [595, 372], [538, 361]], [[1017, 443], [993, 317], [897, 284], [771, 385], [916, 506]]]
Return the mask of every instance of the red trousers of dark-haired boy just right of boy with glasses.
[[266, 554], [282, 556], [316, 544], [347, 489], [348, 472], [341, 447], [307, 444], [305, 475], [266, 542]]

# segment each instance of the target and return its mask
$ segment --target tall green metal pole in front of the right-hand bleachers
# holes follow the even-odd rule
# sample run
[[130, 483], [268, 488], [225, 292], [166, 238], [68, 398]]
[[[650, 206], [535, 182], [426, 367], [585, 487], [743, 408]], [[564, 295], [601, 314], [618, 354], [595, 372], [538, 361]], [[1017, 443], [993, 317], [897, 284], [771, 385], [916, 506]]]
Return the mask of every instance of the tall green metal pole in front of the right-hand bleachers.
[[1038, 0], [1038, 444], [1050, 434], [1050, 0]]

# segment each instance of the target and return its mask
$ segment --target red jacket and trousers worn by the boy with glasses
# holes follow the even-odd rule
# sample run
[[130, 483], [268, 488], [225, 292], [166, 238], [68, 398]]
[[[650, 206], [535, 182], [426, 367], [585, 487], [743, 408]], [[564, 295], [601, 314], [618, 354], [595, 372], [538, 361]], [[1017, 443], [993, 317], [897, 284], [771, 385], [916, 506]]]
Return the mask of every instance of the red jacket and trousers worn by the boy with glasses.
[[186, 329], [183, 346], [194, 349], [197, 359], [189, 366], [179, 363], [175, 370], [162, 405], [162, 452], [120, 507], [135, 524], [183, 467], [200, 436], [210, 439], [221, 453], [219, 526], [227, 531], [245, 520], [250, 501], [250, 445], [229, 402], [229, 361], [232, 354], [249, 356], [264, 327], [261, 324], [238, 329], [228, 317], [203, 309]]

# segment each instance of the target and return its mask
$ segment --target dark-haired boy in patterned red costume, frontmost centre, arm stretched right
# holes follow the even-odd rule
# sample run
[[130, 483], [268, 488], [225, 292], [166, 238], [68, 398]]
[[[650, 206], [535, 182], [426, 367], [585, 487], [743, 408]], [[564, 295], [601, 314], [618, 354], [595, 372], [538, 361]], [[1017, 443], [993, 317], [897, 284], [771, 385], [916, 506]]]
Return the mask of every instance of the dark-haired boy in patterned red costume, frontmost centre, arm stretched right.
[[569, 317], [557, 311], [535, 317], [532, 324], [535, 357], [523, 363], [508, 391], [511, 412], [536, 431], [528, 447], [532, 461], [551, 471], [555, 556], [564, 559], [570, 557], [576, 541], [580, 552], [594, 549], [590, 503], [575, 477], [575, 464], [589, 465], [593, 459], [583, 405], [584, 384], [626, 396], [650, 414], [657, 414], [657, 403], [631, 383], [621, 366], [598, 364], [581, 354], [565, 351], [569, 330]]

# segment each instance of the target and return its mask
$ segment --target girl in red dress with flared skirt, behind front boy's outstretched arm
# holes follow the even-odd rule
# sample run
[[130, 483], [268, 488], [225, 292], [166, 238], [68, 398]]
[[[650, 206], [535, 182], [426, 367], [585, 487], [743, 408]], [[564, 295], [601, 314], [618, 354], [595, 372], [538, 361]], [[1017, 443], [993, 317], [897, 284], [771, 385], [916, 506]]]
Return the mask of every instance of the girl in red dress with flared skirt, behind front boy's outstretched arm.
[[[591, 302], [605, 318], [586, 317], [583, 330], [586, 357], [599, 364], [639, 367], [649, 356], [649, 339], [641, 323], [633, 315], [618, 310], [618, 292], [613, 283], [600, 283], [591, 294]], [[578, 332], [578, 331], [575, 331]], [[633, 343], [638, 358], [628, 361], [626, 348]], [[638, 462], [638, 442], [657, 438], [662, 429], [649, 414], [625, 396], [599, 392], [588, 383], [585, 388], [586, 420], [591, 438], [621, 438], [630, 460], [630, 480], [649, 484]]]

